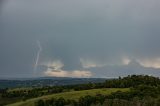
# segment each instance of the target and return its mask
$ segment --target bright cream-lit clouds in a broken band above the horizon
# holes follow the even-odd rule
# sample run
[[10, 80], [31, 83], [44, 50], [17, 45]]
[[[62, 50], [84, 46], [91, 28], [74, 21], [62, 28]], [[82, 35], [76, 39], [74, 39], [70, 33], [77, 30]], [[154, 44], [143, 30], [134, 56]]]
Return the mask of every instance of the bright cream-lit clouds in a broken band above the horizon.
[[[83, 59], [80, 58], [80, 62], [82, 65], [82, 69], [78, 70], [64, 70], [64, 64], [60, 61], [53, 61], [43, 63], [41, 65], [46, 67], [46, 71], [44, 71], [44, 75], [46, 76], [53, 76], [53, 77], [76, 77], [76, 78], [88, 78], [93, 77], [93, 73], [89, 70], [101, 68], [101, 67], [108, 67], [108, 66], [128, 66], [132, 61], [136, 61], [140, 66], [147, 67], [147, 68], [154, 68], [159, 69], [159, 59], [153, 60], [138, 60], [138, 59], [130, 59], [127, 56], [123, 56], [118, 64], [107, 64], [105, 62], [97, 62], [90, 59]], [[118, 61], [118, 60], [117, 60]]]

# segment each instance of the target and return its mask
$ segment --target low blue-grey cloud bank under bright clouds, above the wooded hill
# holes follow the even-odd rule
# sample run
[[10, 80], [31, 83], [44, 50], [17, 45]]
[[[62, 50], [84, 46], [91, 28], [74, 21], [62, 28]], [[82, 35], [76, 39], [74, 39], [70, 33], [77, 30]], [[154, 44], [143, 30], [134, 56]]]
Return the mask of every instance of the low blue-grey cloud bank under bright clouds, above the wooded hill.
[[[131, 74], [142, 74], [142, 75], [152, 75], [159, 77], [159, 69], [147, 68], [141, 66], [136, 61], [132, 61], [128, 65], [119, 65], [119, 66], [106, 66], [101, 68], [91, 68], [93, 73], [96, 73], [95, 77], [118, 77], [118, 76], [127, 76]], [[97, 71], [99, 73], [97, 73]], [[103, 75], [101, 74], [103, 73]]]

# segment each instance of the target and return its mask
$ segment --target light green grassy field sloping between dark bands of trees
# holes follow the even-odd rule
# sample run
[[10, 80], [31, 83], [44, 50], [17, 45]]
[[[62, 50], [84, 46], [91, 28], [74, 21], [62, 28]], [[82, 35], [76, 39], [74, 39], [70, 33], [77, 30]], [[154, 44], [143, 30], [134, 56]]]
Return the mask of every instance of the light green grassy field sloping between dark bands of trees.
[[116, 91], [129, 91], [129, 88], [102, 88], [102, 89], [92, 89], [92, 90], [83, 90], [83, 91], [71, 91], [71, 92], [63, 92], [58, 94], [52, 94], [47, 96], [42, 96], [38, 98], [29, 99], [26, 101], [17, 102], [14, 104], [10, 104], [7, 106], [34, 106], [35, 101], [39, 99], [50, 99], [50, 98], [59, 98], [63, 97], [65, 99], [74, 99], [77, 100], [79, 97], [86, 96], [86, 95], [96, 95], [96, 94], [103, 94], [108, 95], [112, 92]]

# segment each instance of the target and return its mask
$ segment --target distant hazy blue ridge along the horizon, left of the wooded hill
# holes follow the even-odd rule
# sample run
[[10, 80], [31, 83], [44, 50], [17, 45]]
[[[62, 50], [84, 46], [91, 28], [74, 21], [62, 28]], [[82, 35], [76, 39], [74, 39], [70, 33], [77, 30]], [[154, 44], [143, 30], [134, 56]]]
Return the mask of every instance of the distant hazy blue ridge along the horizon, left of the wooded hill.
[[38, 78], [5, 78], [0, 79], [0, 88], [22, 88], [61, 86], [85, 83], [104, 82], [107, 78], [70, 78], [70, 77], [38, 77]]

